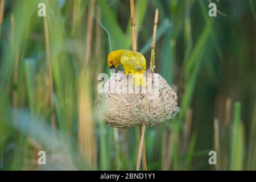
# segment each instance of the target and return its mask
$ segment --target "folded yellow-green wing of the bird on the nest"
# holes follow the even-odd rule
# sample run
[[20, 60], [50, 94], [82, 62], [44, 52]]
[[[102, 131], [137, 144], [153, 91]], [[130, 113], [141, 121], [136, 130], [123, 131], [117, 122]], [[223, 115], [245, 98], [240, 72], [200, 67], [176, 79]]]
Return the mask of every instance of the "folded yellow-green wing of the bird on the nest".
[[146, 60], [141, 53], [133, 51], [125, 51], [121, 56], [121, 63], [128, 68], [133, 68], [137, 71], [141, 71], [146, 67]]

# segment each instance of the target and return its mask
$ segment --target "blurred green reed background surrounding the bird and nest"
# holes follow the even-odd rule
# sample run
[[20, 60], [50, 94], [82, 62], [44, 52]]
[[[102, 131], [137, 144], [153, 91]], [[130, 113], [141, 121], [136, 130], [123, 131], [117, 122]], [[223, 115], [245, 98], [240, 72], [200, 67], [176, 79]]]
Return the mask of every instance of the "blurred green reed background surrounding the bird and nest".
[[[181, 107], [146, 127], [148, 169], [256, 169], [256, 2], [212, 2], [226, 17], [210, 18], [206, 0], [135, 0], [147, 67], [159, 9], [155, 72]], [[110, 51], [95, 17], [113, 49], [131, 49], [128, 0], [1, 0], [0, 169], [135, 169], [139, 128], [106, 126], [94, 105]]]

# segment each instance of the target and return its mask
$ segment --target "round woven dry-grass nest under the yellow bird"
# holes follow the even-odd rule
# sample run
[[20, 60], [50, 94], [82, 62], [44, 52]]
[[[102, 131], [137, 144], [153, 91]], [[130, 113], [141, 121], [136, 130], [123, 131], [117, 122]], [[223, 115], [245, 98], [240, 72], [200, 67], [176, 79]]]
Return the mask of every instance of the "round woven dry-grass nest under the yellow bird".
[[132, 78], [123, 72], [114, 73], [102, 86], [102, 94], [96, 106], [104, 114], [109, 126], [127, 129], [130, 127], [155, 125], [175, 117], [177, 94], [162, 76], [143, 73], [147, 86], [133, 86]]

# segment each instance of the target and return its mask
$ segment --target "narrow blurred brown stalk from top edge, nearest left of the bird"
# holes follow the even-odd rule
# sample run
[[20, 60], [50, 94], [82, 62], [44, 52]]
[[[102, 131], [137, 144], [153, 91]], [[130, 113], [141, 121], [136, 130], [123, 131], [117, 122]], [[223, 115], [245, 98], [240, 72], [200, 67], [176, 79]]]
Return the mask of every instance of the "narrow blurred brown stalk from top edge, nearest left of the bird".
[[93, 31], [93, 14], [94, 14], [95, 0], [90, 1], [89, 14], [87, 17], [86, 25], [86, 50], [85, 50], [85, 63], [88, 63], [91, 52], [92, 52], [92, 31]]

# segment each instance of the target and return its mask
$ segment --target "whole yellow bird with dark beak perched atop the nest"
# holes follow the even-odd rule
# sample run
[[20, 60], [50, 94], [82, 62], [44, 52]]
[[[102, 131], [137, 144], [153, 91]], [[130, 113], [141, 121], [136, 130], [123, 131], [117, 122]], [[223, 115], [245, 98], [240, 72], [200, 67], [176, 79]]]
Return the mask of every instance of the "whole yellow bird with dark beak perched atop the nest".
[[109, 53], [108, 64], [110, 69], [117, 68], [120, 64], [125, 69], [125, 75], [133, 75], [134, 86], [146, 86], [146, 78], [142, 73], [146, 70], [146, 59], [142, 53], [129, 50], [115, 50]]

